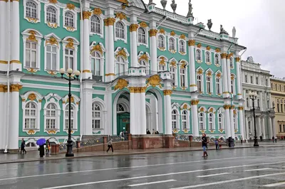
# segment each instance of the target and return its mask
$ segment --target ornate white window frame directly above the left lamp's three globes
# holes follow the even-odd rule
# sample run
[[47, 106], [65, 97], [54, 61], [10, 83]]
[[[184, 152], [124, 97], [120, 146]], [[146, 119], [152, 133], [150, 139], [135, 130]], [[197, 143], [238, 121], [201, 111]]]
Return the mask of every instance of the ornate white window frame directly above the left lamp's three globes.
[[[69, 39], [72, 39], [73, 40], [73, 45], [72, 47], [69, 46]], [[73, 37], [66, 37], [63, 39], [62, 41], [62, 45], [63, 45], [63, 69], [68, 69], [66, 68], [66, 48], [67, 49], [72, 49], [74, 50], [74, 68], [73, 70], [77, 70], [77, 55], [78, 55], [78, 45], [79, 45], [79, 41], [76, 39], [76, 38], [73, 38]]]

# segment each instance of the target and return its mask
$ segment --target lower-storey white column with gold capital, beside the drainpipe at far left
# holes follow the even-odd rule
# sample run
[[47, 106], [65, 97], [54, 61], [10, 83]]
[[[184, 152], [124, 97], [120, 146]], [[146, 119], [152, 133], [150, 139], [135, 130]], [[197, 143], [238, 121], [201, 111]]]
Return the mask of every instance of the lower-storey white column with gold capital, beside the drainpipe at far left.
[[[19, 90], [22, 86], [19, 84], [11, 85], [10, 97], [10, 123], [9, 123], [9, 141], [8, 148], [17, 149], [19, 148]], [[8, 94], [7, 94], [8, 95]]]

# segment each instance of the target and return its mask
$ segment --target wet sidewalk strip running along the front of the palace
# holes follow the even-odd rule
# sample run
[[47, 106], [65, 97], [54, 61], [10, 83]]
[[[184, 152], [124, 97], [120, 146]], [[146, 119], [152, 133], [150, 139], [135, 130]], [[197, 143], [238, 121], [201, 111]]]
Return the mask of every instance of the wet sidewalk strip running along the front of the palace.
[[[234, 148], [254, 148], [254, 143], [244, 143], [236, 144]], [[277, 143], [272, 143], [271, 141], [259, 141], [259, 147], [274, 147], [274, 146], [285, 146], [285, 141], [278, 141]], [[223, 149], [234, 149], [227, 146], [222, 146]], [[209, 146], [208, 150], [215, 150], [215, 146]], [[120, 156], [120, 155], [133, 155], [133, 154], [143, 154], [143, 153], [169, 153], [169, 152], [180, 152], [180, 151], [202, 151], [200, 147], [190, 147], [190, 148], [152, 148], [145, 150], [118, 150], [114, 149], [114, 152], [109, 151], [94, 151], [94, 152], [85, 152], [85, 153], [74, 153], [74, 157], [71, 158], [86, 158], [94, 156]], [[38, 151], [27, 151], [26, 154], [20, 153], [11, 153], [11, 154], [0, 154], [0, 164], [3, 163], [21, 163], [29, 161], [49, 161], [49, 160], [58, 160], [66, 158], [65, 153], [60, 153], [53, 156], [48, 156], [45, 158], [39, 158]]]

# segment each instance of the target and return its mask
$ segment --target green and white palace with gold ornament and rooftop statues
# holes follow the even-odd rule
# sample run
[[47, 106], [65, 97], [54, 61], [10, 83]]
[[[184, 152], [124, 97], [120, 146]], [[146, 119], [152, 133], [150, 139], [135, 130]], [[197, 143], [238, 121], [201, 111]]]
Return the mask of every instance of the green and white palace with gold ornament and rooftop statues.
[[[194, 24], [191, 2], [178, 5], [189, 6], [187, 16], [176, 6], [0, 0], [0, 149], [19, 148], [22, 138], [28, 146], [40, 138], [65, 142], [68, 103], [73, 141], [147, 129], [244, 136], [244, 46], [222, 26], [215, 33]], [[71, 102], [61, 68], [81, 72]]]

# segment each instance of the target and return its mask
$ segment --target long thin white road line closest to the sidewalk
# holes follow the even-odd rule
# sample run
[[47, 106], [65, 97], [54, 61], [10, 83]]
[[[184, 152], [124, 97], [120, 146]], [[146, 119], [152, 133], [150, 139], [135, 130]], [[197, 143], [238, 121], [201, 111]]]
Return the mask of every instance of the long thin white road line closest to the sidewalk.
[[[227, 159], [248, 158], [248, 157], [251, 157], [251, 156], [210, 159], [210, 160], [206, 160], [206, 161], [221, 161], [221, 160], [227, 160]], [[118, 170], [118, 169], [125, 169], [125, 168], [146, 168], [146, 167], [154, 167], [154, 166], [168, 166], [168, 165], [177, 165], [177, 164], [184, 164], [184, 163], [199, 163], [199, 162], [205, 162], [205, 160], [202, 160], [202, 161], [201, 160], [199, 160], [199, 161], [183, 161], [183, 162], [177, 162], [177, 163], [162, 163], [162, 164], [155, 164], [155, 165], [132, 166], [132, 167], [121, 167], [121, 168], [102, 168], [102, 169], [93, 169], [93, 170], [86, 170], [86, 171], [49, 173], [49, 174], [42, 174], [42, 175], [28, 175], [28, 176], [20, 176], [20, 177], [13, 177], [13, 178], [0, 178], [0, 181], [1, 180], [21, 179], [21, 178], [34, 178], [34, 177], [49, 176], [49, 175], [65, 175], [65, 174], [71, 174], [71, 173], [88, 173], [88, 172], [95, 172], [95, 171], [111, 171], [111, 170]]]

